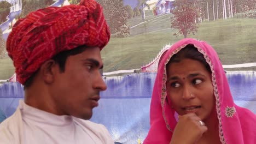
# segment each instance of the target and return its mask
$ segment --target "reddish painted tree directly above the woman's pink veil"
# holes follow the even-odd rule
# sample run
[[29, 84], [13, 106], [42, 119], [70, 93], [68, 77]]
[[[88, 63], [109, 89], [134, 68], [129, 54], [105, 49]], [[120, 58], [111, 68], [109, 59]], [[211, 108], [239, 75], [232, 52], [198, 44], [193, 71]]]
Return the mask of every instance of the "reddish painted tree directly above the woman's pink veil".
[[199, 17], [199, 10], [196, 5], [196, 1], [193, 0], [174, 1], [174, 18], [171, 22], [171, 27], [178, 29], [178, 32], [173, 35], [183, 34], [184, 38], [187, 38], [188, 34], [196, 33], [198, 24], [195, 22], [195, 19]]

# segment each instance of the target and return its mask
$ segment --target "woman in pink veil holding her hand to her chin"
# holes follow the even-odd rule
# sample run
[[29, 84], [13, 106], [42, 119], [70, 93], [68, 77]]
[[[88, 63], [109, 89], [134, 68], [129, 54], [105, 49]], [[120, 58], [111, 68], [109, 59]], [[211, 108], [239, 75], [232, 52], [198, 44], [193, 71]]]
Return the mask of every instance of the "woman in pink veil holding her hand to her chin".
[[237, 106], [214, 49], [183, 39], [163, 56], [143, 144], [256, 143], [256, 116]]

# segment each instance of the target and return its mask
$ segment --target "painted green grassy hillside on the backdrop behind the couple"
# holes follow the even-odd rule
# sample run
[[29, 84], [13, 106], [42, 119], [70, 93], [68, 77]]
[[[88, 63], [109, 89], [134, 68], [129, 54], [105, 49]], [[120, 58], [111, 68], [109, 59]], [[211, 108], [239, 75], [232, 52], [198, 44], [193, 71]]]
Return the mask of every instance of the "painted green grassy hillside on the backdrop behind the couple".
[[[163, 46], [183, 39], [173, 36], [170, 14], [150, 16], [144, 22], [131, 29], [131, 37], [111, 38], [102, 50], [104, 71], [136, 69], [147, 64], [157, 55]], [[142, 22], [140, 17], [131, 19], [132, 26]], [[202, 22], [196, 35], [189, 37], [206, 40], [219, 54], [223, 64], [256, 62], [256, 19], [228, 19]], [[143, 30], [144, 29], [144, 30]], [[145, 32], [145, 33], [144, 33]], [[0, 59], [0, 79], [8, 79], [14, 73], [10, 59]]]

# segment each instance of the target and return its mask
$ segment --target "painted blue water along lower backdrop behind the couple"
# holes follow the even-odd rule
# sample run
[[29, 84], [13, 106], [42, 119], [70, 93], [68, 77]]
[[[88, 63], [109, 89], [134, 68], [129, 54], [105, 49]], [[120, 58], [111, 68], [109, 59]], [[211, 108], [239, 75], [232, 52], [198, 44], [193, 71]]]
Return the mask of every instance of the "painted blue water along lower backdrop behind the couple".
[[[231, 93], [237, 105], [256, 113], [256, 74], [227, 73]], [[101, 93], [91, 121], [106, 125], [115, 141], [137, 143], [149, 130], [149, 106], [156, 73], [105, 77], [108, 89]], [[0, 87], [0, 109], [9, 117], [24, 98], [19, 83], [4, 83]]]

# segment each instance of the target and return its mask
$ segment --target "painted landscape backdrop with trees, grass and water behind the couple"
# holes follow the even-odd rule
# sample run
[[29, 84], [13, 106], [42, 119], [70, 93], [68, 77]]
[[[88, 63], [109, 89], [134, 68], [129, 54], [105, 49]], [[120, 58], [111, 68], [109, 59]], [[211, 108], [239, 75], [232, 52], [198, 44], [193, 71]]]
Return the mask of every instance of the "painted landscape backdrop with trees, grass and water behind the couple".
[[[186, 37], [216, 49], [236, 104], [256, 113], [256, 0], [96, 1], [104, 8], [112, 36], [102, 50], [108, 89], [91, 121], [106, 125], [115, 141], [143, 142], [158, 61], [171, 44]], [[5, 41], [14, 23], [33, 10], [77, 3], [0, 0], [0, 122], [24, 98], [22, 86], [8, 82], [15, 81], [15, 72]]]

